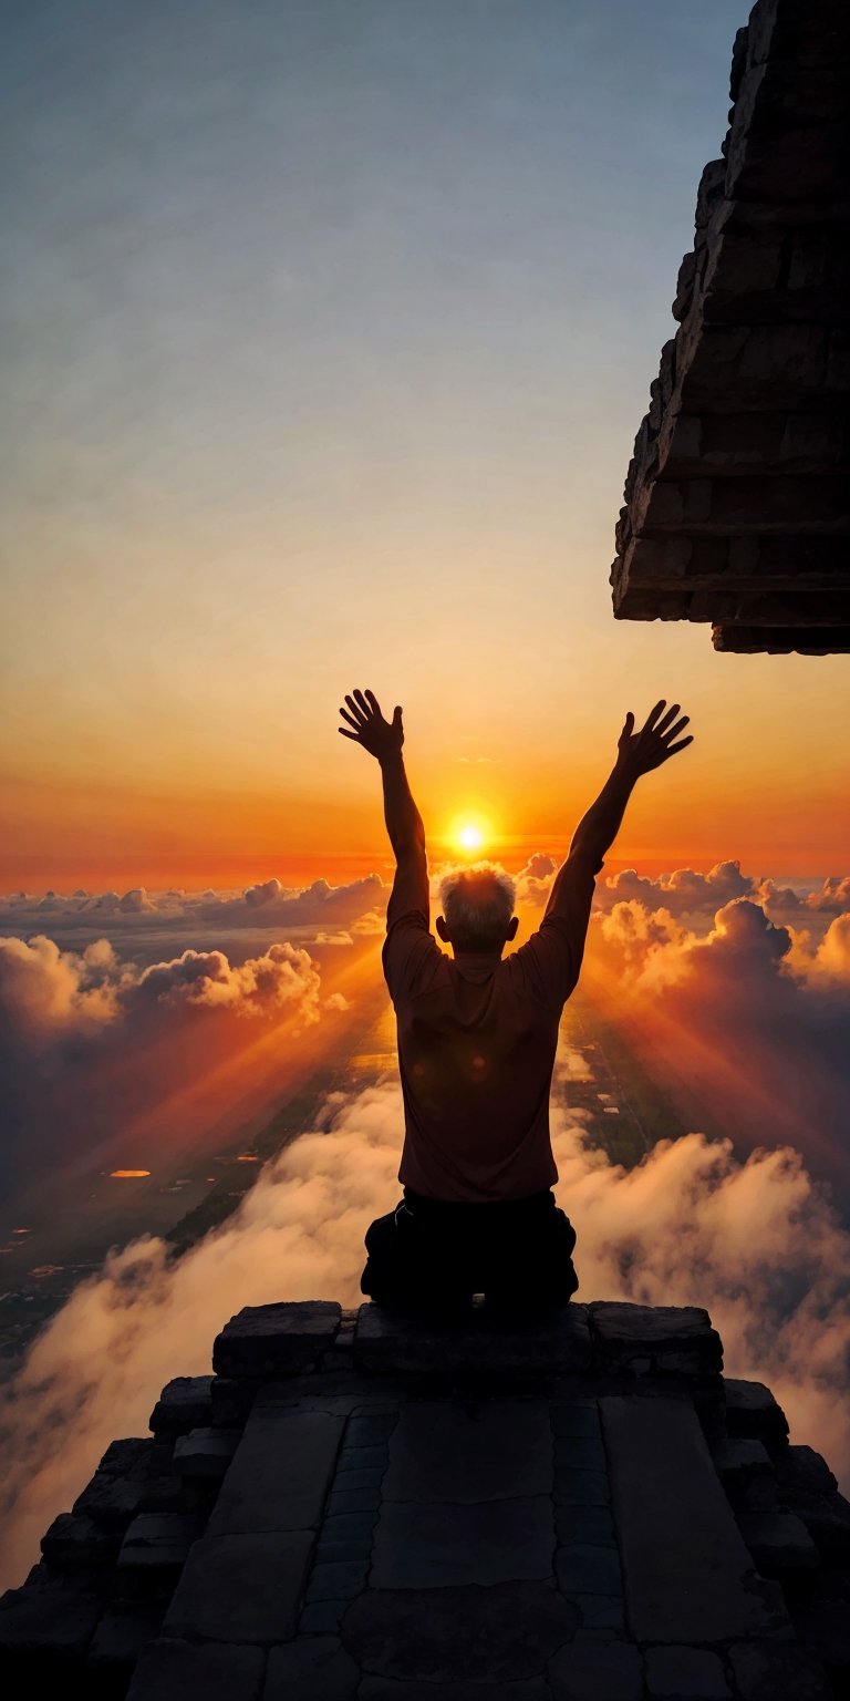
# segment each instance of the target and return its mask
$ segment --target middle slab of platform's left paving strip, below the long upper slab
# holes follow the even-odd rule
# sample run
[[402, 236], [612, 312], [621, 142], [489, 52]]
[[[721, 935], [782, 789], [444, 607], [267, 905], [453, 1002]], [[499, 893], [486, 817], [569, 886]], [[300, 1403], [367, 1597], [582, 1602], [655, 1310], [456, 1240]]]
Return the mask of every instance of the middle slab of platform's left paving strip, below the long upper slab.
[[269, 1645], [296, 1633], [313, 1536], [206, 1536], [192, 1548], [165, 1635]]

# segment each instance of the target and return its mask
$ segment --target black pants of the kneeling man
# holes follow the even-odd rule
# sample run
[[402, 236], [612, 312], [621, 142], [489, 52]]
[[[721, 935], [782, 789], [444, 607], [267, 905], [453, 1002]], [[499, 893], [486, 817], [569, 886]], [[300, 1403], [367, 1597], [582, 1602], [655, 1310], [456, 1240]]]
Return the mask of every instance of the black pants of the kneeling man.
[[554, 1194], [450, 1204], [405, 1198], [366, 1232], [360, 1288], [393, 1311], [459, 1311], [474, 1293], [503, 1315], [566, 1305], [578, 1288], [571, 1252], [576, 1232]]

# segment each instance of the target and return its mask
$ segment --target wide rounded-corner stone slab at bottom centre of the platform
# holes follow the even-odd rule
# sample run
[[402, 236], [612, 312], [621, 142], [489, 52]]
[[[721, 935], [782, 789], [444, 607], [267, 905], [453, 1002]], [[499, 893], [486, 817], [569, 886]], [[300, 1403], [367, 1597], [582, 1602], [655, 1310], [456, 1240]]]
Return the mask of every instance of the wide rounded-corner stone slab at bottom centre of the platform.
[[367, 1589], [348, 1606], [342, 1640], [364, 1677], [478, 1687], [542, 1677], [578, 1623], [576, 1609], [537, 1582]]

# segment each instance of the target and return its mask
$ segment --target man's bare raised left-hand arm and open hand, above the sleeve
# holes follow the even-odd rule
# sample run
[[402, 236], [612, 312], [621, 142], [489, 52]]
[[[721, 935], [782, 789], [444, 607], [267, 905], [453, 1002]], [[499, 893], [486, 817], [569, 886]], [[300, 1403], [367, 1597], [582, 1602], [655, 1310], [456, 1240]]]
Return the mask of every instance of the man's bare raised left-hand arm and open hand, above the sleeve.
[[396, 857], [396, 878], [389, 898], [388, 925], [408, 910], [423, 910], [427, 917], [428, 864], [425, 857], [425, 827], [413, 803], [405, 772], [401, 709], [396, 708], [393, 720], [386, 721], [372, 691], [355, 691], [345, 697], [345, 703], [347, 708], [340, 708], [340, 716], [348, 725], [338, 728], [342, 737], [354, 738], [369, 755], [374, 755], [381, 767], [384, 822]]

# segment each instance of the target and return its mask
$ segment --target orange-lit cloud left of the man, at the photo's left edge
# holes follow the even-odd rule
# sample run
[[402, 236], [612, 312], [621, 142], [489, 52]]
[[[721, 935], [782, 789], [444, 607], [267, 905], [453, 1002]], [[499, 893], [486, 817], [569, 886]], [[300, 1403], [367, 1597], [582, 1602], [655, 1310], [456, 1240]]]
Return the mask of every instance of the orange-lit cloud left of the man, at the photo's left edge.
[[[42, 934], [0, 939], [0, 1198], [90, 1163], [131, 1129], [151, 1152], [189, 1143], [204, 1114], [218, 1121], [230, 1099], [260, 1090], [257, 1065], [255, 1084], [240, 1082], [243, 1053], [265, 1041], [286, 1051], [318, 1024], [320, 992], [316, 963], [289, 942], [241, 963], [187, 949], [139, 968], [105, 939], [83, 951]], [[165, 1111], [175, 1097], [178, 1111]]]

